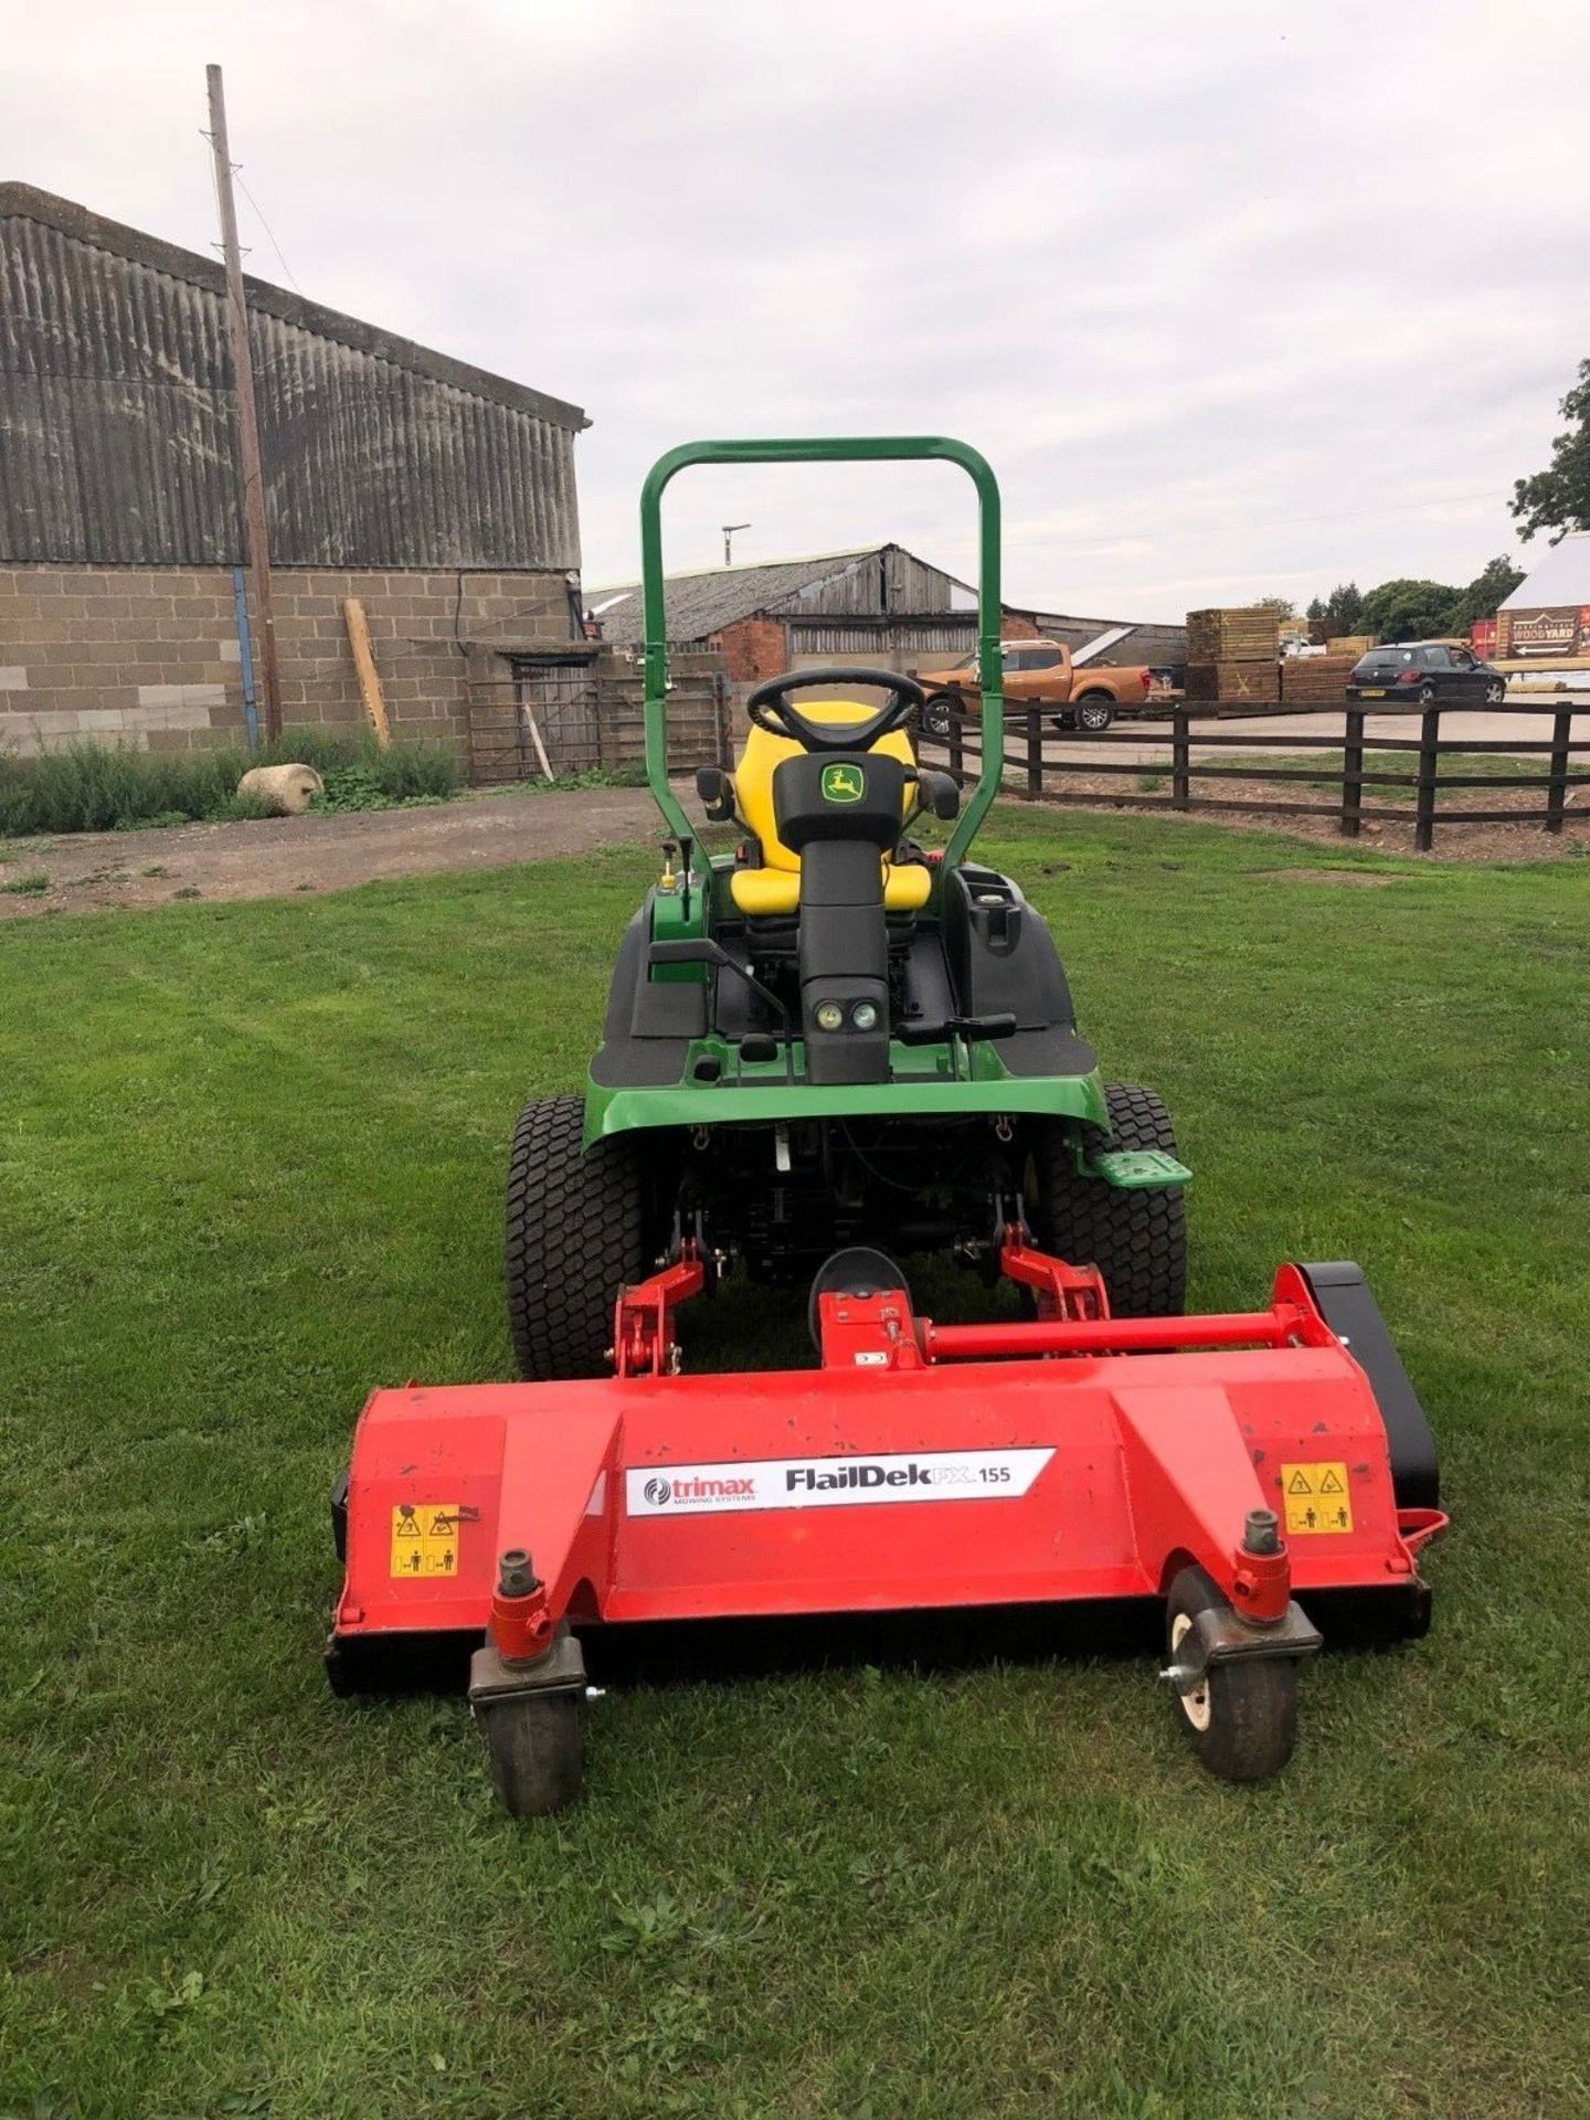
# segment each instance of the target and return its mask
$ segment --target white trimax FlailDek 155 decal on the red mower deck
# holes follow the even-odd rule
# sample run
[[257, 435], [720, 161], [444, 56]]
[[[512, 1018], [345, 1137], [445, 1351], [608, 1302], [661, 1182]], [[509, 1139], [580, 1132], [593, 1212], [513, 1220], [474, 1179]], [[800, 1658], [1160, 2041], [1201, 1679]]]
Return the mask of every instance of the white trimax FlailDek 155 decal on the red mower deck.
[[632, 1465], [623, 1473], [623, 1499], [630, 1516], [848, 1509], [873, 1501], [1018, 1501], [1052, 1456], [1052, 1448], [901, 1450], [882, 1456]]

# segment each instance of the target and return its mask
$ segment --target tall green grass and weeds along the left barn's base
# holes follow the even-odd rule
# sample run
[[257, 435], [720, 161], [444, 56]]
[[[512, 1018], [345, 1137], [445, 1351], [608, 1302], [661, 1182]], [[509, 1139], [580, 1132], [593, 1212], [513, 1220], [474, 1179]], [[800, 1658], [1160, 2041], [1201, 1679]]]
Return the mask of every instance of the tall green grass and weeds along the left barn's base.
[[369, 731], [286, 729], [252, 759], [244, 750], [138, 750], [87, 740], [28, 759], [0, 748], [0, 835], [259, 816], [240, 801], [237, 782], [250, 765], [284, 763], [314, 765], [331, 810], [443, 801], [462, 787], [452, 744], [382, 750]]

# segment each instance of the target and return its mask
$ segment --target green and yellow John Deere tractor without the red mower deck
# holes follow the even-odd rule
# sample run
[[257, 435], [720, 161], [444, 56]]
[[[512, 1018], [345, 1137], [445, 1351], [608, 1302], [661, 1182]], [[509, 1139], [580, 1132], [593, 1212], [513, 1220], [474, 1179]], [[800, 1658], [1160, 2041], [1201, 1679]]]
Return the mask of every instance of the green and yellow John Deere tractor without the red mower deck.
[[[1121, 1270], [1153, 1227], [1162, 1255], [1145, 1300], [1181, 1304], [1187, 1172], [1164, 1111], [1105, 1088], [1045, 920], [1011, 878], [967, 859], [1003, 776], [999, 683], [982, 697], [965, 803], [918, 765], [905, 723], [920, 689], [886, 670], [761, 687], [738, 763], [697, 774], [708, 820], [740, 831], [734, 850], [708, 852], [670, 780], [664, 490], [691, 464], [812, 460], [969, 473], [982, 661], [999, 670], [999, 488], [965, 443], [710, 441], [653, 466], [640, 502], [644, 738], [668, 837], [619, 948], [579, 1128], [566, 1109], [555, 1145], [545, 1126], [534, 1138], [522, 1126], [515, 1147], [509, 1312], [532, 1378], [600, 1374], [608, 1270], [632, 1280], [685, 1242], [784, 1285], [856, 1244], [992, 1274], [1013, 1217], [1052, 1240], [1075, 1238], [1081, 1217]], [[755, 700], [780, 685], [829, 697], [793, 721], [782, 695], [759, 714]], [[863, 685], [893, 687], [890, 704], [873, 712], [846, 695]], [[912, 840], [924, 814], [950, 825], [941, 848]], [[606, 1253], [596, 1276], [575, 1276], [558, 1223], [598, 1202]], [[625, 1234], [613, 1238], [619, 1202]], [[1143, 1278], [1141, 1259], [1132, 1272]]]

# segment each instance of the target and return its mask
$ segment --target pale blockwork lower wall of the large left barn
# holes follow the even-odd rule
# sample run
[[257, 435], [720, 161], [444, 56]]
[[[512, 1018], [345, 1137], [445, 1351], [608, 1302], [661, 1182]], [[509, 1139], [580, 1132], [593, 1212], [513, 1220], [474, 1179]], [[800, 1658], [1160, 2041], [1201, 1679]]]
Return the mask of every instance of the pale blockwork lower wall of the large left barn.
[[[286, 727], [363, 721], [346, 596], [365, 604], [399, 738], [464, 736], [460, 642], [570, 640], [562, 575], [282, 568], [271, 585]], [[254, 659], [259, 670], [259, 644]], [[38, 750], [78, 736], [151, 750], [242, 742], [229, 568], [0, 566], [0, 744]]]

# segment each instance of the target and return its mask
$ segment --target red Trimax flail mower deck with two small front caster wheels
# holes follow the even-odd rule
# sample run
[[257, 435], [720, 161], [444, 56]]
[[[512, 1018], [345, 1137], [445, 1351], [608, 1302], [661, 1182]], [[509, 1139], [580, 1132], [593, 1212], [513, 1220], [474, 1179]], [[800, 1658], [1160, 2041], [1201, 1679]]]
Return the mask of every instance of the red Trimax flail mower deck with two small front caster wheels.
[[1001, 1264], [1037, 1319], [823, 1293], [820, 1370], [681, 1376], [685, 1257], [619, 1300], [611, 1378], [373, 1393], [333, 1683], [371, 1649], [483, 1637], [498, 1789], [549, 1810], [581, 1774], [570, 1624], [1168, 1598], [1187, 1734], [1217, 1772], [1272, 1772], [1321, 1639], [1295, 1594], [1378, 1592], [1420, 1632], [1416, 1554], [1446, 1524], [1357, 1268], [1283, 1266], [1268, 1310], [1111, 1319], [1092, 1270], [1022, 1242]]

